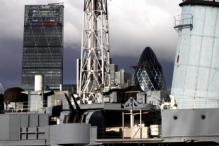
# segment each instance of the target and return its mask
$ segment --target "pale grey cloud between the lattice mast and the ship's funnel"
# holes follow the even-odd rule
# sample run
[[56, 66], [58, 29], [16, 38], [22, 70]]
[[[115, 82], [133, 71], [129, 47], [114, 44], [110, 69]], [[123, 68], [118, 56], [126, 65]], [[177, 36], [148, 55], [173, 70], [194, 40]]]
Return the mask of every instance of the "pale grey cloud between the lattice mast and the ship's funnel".
[[151, 46], [158, 58], [173, 60], [177, 42], [173, 16], [180, 13], [180, 2], [113, 1], [109, 4], [111, 53], [138, 56]]

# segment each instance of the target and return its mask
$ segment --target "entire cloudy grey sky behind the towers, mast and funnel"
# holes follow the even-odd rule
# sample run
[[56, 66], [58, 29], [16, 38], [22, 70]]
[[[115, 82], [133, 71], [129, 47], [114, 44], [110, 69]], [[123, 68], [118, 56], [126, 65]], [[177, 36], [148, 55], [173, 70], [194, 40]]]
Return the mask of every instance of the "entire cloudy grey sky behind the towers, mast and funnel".
[[[75, 83], [80, 57], [83, 0], [0, 0], [0, 83], [21, 84], [24, 6], [64, 2], [64, 83]], [[159, 59], [171, 87], [177, 32], [173, 17], [182, 0], [109, 1], [110, 52], [113, 63], [132, 73], [146, 46]]]

